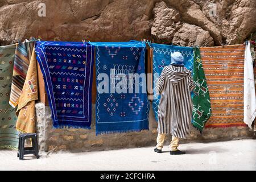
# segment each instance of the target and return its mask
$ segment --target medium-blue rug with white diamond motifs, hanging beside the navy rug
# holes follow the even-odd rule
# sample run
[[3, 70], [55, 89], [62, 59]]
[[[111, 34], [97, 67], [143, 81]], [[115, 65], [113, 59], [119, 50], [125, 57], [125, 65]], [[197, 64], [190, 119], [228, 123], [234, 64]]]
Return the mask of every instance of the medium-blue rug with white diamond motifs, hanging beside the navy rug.
[[[139, 78], [135, 86], [129, 76], [145, 73], [146, 44], [135, 41], [91, 44], [96, 46], [96, 135], [148, 130], [146, 82]], [[109, 79], [100, 78], [101, 73]], [[114, 92], [110, 92], [113, 88]], [[126, 91], [117, 93], [116, 88]], [[135, 93], [138, 88], [140, 91]], [[129, 89], [134, 92], [129, 93]]]

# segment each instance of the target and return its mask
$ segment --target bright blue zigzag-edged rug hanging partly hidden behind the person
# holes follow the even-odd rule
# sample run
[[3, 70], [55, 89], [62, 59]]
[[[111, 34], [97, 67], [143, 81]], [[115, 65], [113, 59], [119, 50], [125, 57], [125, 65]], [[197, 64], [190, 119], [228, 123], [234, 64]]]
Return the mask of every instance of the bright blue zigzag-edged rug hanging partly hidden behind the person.
[[163, 68], [171, 64], [171, 53], [180, 52], [184, 57], [184, 65], [187, 69], [193, 71], [193, 48], [192, 47], [180, 47], [180, 46], [169, 46], [164, 44], [150, 44], [153, 48], [153, 88], [154, 88], [154, 100], [152, 102], [153, 110], [155, 113], [155, 119], [158, 121], [158, 104], [160, 96], [156, 94], [156, 82], [158, 77], [155, 76], [157, 73], [159, 76]]

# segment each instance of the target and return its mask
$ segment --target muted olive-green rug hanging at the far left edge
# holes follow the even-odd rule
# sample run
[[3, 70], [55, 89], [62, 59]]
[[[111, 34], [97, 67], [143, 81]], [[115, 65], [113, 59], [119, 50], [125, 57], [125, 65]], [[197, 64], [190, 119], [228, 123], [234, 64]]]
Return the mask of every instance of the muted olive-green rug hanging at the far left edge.
[[17, 148], [15, 109], [9, 105], [15, 44], [0, 47], [0, 148]]

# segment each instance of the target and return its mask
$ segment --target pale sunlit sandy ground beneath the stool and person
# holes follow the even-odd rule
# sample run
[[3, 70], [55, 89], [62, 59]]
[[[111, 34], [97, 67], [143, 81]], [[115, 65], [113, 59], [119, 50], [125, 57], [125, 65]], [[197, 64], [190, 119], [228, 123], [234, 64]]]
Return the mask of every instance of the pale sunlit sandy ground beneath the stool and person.
[[181, 144], [185, 155], [162, 154], [154, 147], [57, 154], [41, 153], [40, 159], [16, 151], [0, 150], [1, 170], [256, 170], [256, 140]]

